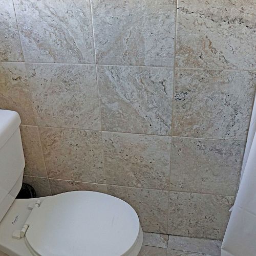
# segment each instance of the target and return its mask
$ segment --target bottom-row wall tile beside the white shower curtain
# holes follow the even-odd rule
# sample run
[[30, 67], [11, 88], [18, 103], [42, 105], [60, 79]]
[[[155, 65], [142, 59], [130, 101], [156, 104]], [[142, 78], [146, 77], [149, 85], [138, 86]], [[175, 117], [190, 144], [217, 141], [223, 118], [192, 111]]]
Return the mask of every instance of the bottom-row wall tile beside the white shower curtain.
[[168, 234], [223, 239], [233, 197], [170, 191], [169, 200]]

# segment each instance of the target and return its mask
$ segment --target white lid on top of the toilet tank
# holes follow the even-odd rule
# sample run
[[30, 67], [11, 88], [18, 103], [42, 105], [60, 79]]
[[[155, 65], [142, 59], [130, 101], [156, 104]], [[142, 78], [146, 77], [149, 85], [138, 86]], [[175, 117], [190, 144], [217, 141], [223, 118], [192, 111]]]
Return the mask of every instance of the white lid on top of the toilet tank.
[[11, 110], [0, 110], [0, 148], [10, 139], [20, 125], [19, 114]]

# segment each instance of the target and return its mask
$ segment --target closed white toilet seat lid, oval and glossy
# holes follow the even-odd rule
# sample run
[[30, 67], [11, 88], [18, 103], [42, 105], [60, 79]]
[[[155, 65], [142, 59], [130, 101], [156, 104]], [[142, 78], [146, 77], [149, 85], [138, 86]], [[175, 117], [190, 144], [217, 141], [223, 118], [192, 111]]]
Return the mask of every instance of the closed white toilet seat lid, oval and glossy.
[[51, 196], [30, 218], [25, 241], [34, 255], [126, 255], [139, 238], [135, 210], [93, 191]]

